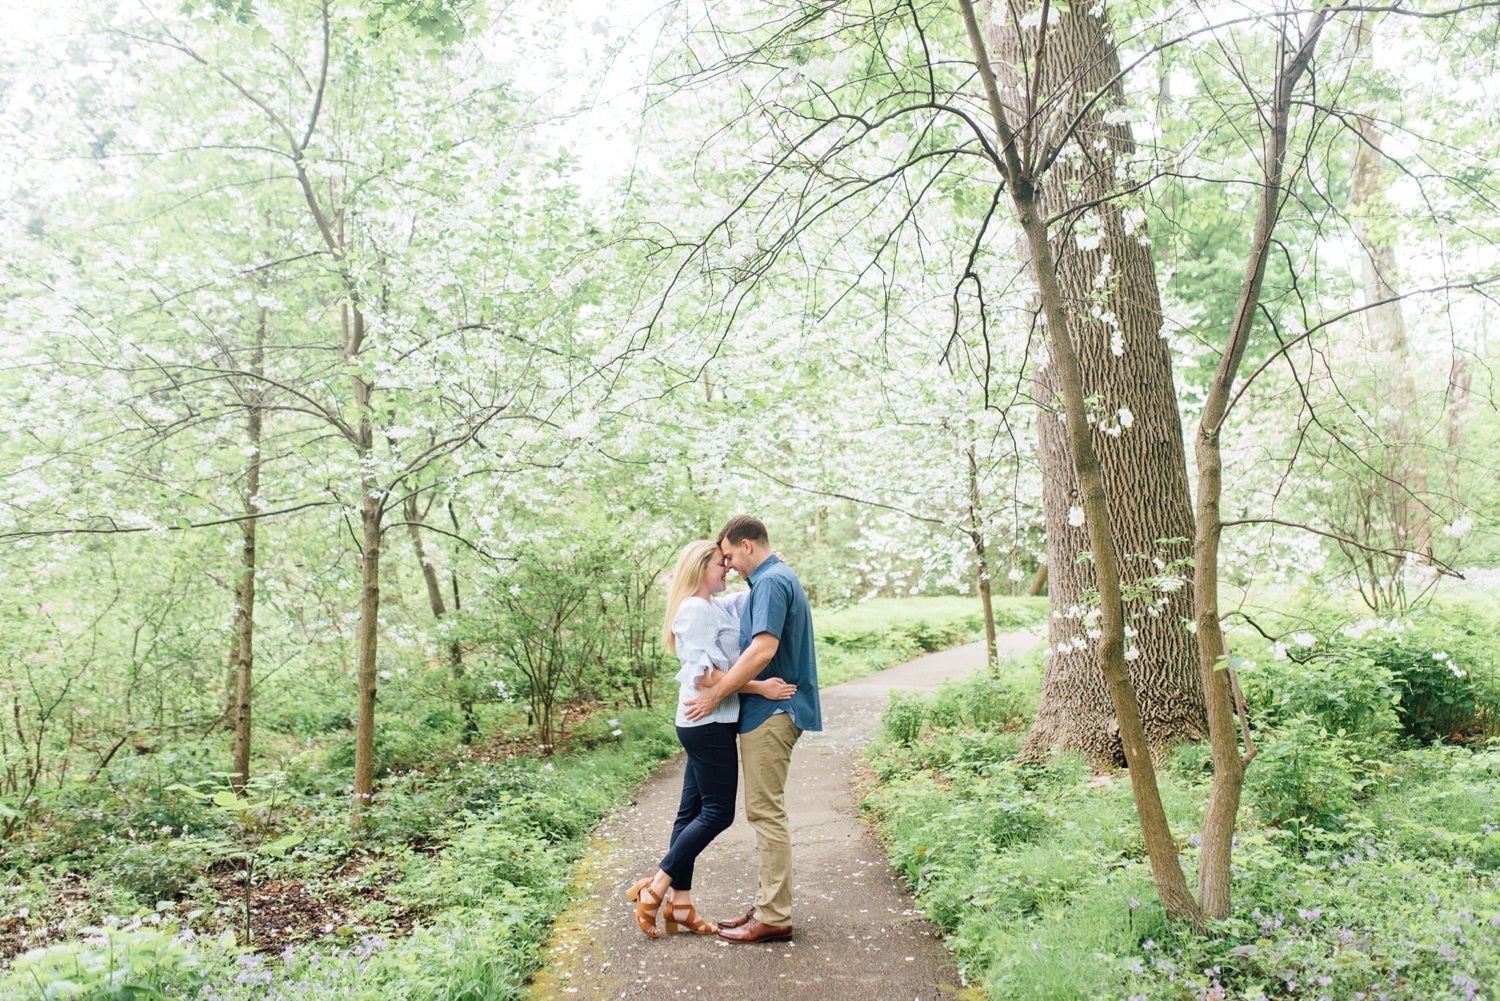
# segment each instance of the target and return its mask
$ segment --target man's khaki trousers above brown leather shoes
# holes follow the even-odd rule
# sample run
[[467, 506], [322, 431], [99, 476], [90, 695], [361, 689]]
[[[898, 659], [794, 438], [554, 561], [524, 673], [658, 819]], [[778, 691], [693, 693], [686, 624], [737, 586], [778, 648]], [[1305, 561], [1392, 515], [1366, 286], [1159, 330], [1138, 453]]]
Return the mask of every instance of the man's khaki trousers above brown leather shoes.
[[788, 713], [776, 713], [748, 734], [740, 734], [746, 773], [746, 819], [754, 828], [760, 885], [754, 914], [766, 924], [792, 923], [792, 831], [786, 822], [786, 767], [802, 731]]

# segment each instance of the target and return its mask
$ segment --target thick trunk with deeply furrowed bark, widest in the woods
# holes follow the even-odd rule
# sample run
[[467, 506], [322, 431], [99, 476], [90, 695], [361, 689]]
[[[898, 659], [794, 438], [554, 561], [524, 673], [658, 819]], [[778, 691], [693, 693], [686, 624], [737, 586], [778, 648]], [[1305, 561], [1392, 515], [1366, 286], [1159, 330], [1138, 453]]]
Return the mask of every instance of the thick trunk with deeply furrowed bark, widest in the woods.
[[[1046, 9], [1047, 5], [1041, 5]], [[1008, 18], [987, 18], [988, 44], [996, 53], [996, 77], [1004, 93], [1036, 95], [1034, 143], [1054, 141], [1066, 123], [1100, 90], [1100, 101], [1078, 125], [1068, 152], [1036, 188], [1041, 219], [1056, 219], [1120, 188], [1116, 164], [1134, 152], [1128, 123], [1107, 125], [1106, 113], [1125, 102], [1119, 56], [1108, 35], [1107, 15], [1092, 17], [1086, 6], [1060, 12], [1047, 29], [1040, 71], [1022, 57], [1035, 50], [1035, 29], [1020, 38], [1016, 24], [1038, 3], [1004, 8]], [[1113, 83], [1112, 83], [1113, 81]], [[1056, 279], [1078, 357], [1084, 399], [1096, 399], [1102, 426], [1119, 420], [1131, 426], [1118, 435], [1095, 434], [1104, 491], [1110, 498], [1110, 525], [1122, 554], [1124, 582], [1156, 572], [1164, 563], [1186, 557], [1192, 536], [1182, 419], [1172, 381], [1172, 357], [1161, 338], [1161, 297], [1143, 224], [1126, 227], [1122, 206], [1108, 201], [1071, 224], [1054, 225], [1050, 242]], [[1035, 266], [1035, 252], [1032, 251]], [[1044, 314], [1046, 315], [1046, 314]], [[1050, 317], [1047, 318], [1052, 323]], [[1048, 332], [1050, 333], [1050, 332]], [[1050, 404], [1060, 390], [1056, 359], [1036, 368], [1036, 399]], [[1042, 471], [1042, 515], [1047, 524], [1047, 581], [1052, 617], [1047, 668], [1036, 720], [1022, 749], [1026, 758], [1052, 750], [1080, 750], [1096, 768], [1122, 764], [1114, 708], [1100, 672], [1100, 660], [1078, 618], [1084, 593], [1096, 587], [1096, 566], [1080, 561], [1089, 531], [1070, 524], [1080, 506], [1082, 486], [1074, 473], [1071, 435], [1064, 422], [1044, 416], [1036, 422]], [[1161, 543], [1176, 539], [1173, 543]], [[1142, 554], [1142, 555], [1136, 555]], [[1056, 573], [1052, 573], [1052, 570]], [[1208, 734], [1203, 683], [1197, 671], [1186, 588], [1164, 596], [1164, 603], [1132, 606], [1136, 659], [1130, 677], [1140, 699], [1146, 741], [1158, 759], [1178, 740]], [[1138, 605], [1138, 603], [1137, 603]]]

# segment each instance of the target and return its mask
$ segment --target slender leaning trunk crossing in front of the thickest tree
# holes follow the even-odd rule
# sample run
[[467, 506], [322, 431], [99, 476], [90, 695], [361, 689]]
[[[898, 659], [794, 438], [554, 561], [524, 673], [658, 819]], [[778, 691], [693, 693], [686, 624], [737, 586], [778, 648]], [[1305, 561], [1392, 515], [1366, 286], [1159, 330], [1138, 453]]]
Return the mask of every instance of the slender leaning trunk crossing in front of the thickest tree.
[[[1116, 536], [1110, 524], [1110, 503], [1104, 470], [1100, 456], [1094, 449], [1094, 425], [1089, 420], [1088, 398], [1084, 396], [1083, 366], [1074, 348], [1074, 339], [1086, 339], [1086, 333], [1074, 333], [1068, 305], [1062, 285], [1058, 279], [1058, 269], [1052, 257], [1048, 242], [1047, 216], [1042, 215], [1042, 204], [1038, 195], [1036, 182], [1030, 168], [1035, 147], [1026, 137], [1026, 149], [1017, 144], [1017, 129], [1006, 119], [1005, 107], [1000, 102], [999, 84], [994, 69], [974, 12], [972, 0], [958, 0], [963, 12], [964, 29], [969, 45], [974, 50], [975, 66], [984, 84], [986, 99], [994, 129], [999, 134], [1002, 162], [999, 164], [1005, 186], [1016, 209], [1016, 221], [1020, 224], [1026, 239], [1026, 251], [1035, 266], [1036, 288], [1041, 297], [1042, 312], [1047, 320], [1047, 344], [1052, 351], [1052, 363], [1056, 368], [1056, 387], [1064, 399], [1064, 419], [1066, 423], [1068, 446], [1072, 455], [1072, 471], [1078, 485], [1078, 501], [1083, 510], [1083, 527], [1088, 531], [1088, 542], [1092, 549], [1092, 564], [1098, 587], [1100, 638], [1098, 662], [1104, 686], [1114, 710], [1114, 731], [1119, 746], [1130, 765], [1131, 792], [1136, 797], [1136, 815], [1140, 819], [1142, 836], [1146, 842], [1146, 854], [1150, 858], [1150, 875], [1156, 887], [1156, 896], [1168, 917], [1190, 920], [1202, 924], [1202, 911], [1188, 890], [1186, 878], [1182, 873], [1182, 863], [1178, 857], [1178, 845], [1172, 837], [1172, 827], [1167, 824], [1167, 813], [1161, 803], [1161, 791], [1156, 786], [1156, 770], [1150, 759], [1150, 743], [1146, 735], [1140, 704], [1136, 699], [1136, 689], [1131, 681], [1125, 660], [1125, 606], [1122, 596], [1122, 575]], [[1020, 17], [1012, 9], [1012, 17]], [[1047, 23], [1047, 5], [1042, 3], [1041, 24]], [[1041, 42], [1032, 51], [1040, 51]], [[1022, 120], [1022, 129], [1028, 122]], [[1052, 183], [1048, 179], [1047, 183]]]

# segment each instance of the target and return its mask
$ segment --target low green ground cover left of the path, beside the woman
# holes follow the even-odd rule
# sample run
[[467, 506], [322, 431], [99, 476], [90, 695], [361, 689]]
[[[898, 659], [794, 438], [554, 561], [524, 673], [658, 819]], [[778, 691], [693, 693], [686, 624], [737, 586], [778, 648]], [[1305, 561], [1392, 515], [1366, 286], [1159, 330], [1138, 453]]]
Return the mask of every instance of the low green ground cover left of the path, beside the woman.
[[[186, 764], [165, 786], [118, 776], [98, 813], [57, 810], [56, 837], [3, 860], [0, 990], [516, 996], [588, 833], [676, 740], [663, 711], [634, 708], [579, 720], [573, 740], [544, 756], [448, 737], [444, 750], [429, 743], [423, 767], [386, 777], [360, 831], [342, 815], [327, 749], [254, 780], [248, 821], [240, 810], [214, 816], [214, 798], [232, 794], [222, 776], [194, 777]], [[63, 833], [88, 818], [87, 837]], [[256, 846], [252, 894], [244, 867], [216, 861], [246, 822], [284, 845]]]

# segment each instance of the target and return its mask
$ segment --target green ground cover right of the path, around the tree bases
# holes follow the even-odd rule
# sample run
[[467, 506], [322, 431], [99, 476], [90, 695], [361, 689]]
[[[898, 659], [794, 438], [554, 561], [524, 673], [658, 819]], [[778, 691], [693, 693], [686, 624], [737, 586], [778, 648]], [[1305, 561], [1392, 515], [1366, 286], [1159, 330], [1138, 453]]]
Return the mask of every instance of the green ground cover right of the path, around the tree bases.
[[[1500, 642], [1470, 629], [1472, 614], [1324, 615], [1326, 632], [1288, 618], [1290, 647], [1236, 636], [1260, 753], [1232, 914], [1203, 933], [1166, 920], [1118, 773], [1092, 774], [1076, 756], [1017, 759], [1035, 659], [892, 699], [866, 807], [990, 998], [1494, 998]], [[1312, 684], [1308, 665], [1329, 659], [1314, 651], [1360, 668], [1326, 666]], [[1470, 707], [1443, 737], [1419, 708], [1442, 681], [1428, 665], [1470, 699], [1438, 696]], [[1190, 869], [1209, 768], [1204, 747], [1184, 744], [1162, 770]]]

